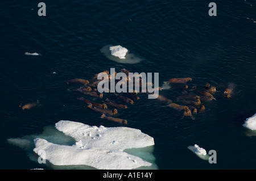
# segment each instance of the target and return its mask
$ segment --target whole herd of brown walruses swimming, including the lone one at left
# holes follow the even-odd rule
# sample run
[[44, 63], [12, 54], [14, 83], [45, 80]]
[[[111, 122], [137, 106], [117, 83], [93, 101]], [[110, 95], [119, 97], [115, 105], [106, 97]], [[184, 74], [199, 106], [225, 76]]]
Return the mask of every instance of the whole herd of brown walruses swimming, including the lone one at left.
[[[125, 73], [129, 77], [129, 70], [121, 69], [121, 72]], [[110, 75], [108, 70], [102, 71], [109, 75], [109, 81], [115, 75]], [[115, 121], [117, 123], [127, 124], [127, 120], [118, 118], [118, 110], [127, 109], [127, 105], [131, 105], [135, 100], [139, 99], [138, 94], [142, 92], [126, 92], [125, 94], [115, 94], [119, 100], [123, 102], [117, 103], [116, 100], [109, 100], [104, 98], [104, 95], [97, 90], [98, 83], [101, 81], [97, 79], [98, 74], [95, 74], [90, 80], [75, 78], [67, 81], [67, 85], [72, 85], [75, 87], [69, 87], [69, 91], [77, 91], [83, 94], [85, 97], [77, 98], [84, 102], [90, 110], [101, 113], [101, 118]], [[127, 81], [129, 78], [127, 77]], [[203, 89], [198, 89], [196, 86], [192, 86], [191, 89], [187, 85], [188, 82], [191, 82], [192, 78], [171, 78], [167, 82], [170, 84], [173, 89], [177, 88], [182, 90], [182, 94], [176, 97], [174, 103], [171, 99], [168, 99], [162, 95], [158, 95], [156, 100], [161, 103], [164, 103], [167, 107], [171, 107], [176, 111], [182, 111], [183, 117], [191, 117], [195, 120], [193, 115], [205, 111], [205, 106], [202, 105], [204, 102], [209, 102], [211, 100], [216, 100], [214, 94], [216, 93], [216, 87], [210, 86], [209, 83], [206, 83]], [[156, 89], [162, 90], [161, 87], [155, 87]], [[110, 90], [109, 90], [110, 91]], [[225, 89], [224, 96], [230, 98], [232, 96], [232, 88]], [[143, 94], [149, 94], [148, 92]], [[93, 99], [93, 100], [92, 100]], [[95, 102], [96, 101], [96, 102]], [[40, 106], [39, 102], [36, 103], [27, 103], [24, 104], [22, 110], [29, 110], [32, 107]], [[182, 118], [183, 118], [182, 117]]]

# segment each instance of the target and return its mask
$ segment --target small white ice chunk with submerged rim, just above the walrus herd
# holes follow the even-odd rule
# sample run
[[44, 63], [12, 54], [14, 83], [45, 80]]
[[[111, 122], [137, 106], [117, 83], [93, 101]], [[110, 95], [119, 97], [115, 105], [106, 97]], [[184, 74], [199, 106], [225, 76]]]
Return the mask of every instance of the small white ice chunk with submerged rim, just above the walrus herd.
[[106, 45], [100, 49], [109, 60], [123, 64], [136, 64], [142, 59], [135, 56], [133, 53], [129, 53], [129, 50], [121, 45]]

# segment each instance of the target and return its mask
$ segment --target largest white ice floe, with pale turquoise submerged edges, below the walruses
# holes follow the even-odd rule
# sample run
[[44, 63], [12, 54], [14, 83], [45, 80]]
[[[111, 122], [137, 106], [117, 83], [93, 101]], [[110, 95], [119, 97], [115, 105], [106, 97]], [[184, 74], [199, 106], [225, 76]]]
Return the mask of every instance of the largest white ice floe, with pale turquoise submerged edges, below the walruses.
[[[47, 136], [33, 136], [36, 154], [45, 151], [46, 160], [55, 166], [90, 166], [95, 169], [157, 169], [152, 156], [154, 138], [139, 129], [96, 127], [61, 120], [55, 128], [72, 137], [75, 144], [53, 143]], [[57, 138], [55, 138], [57, 140]], [[26, 148], [26, 139], [10, 138], [11, 144]], [[24, 142], [24, 145], [20, 145]], [[144, 159], [143, 159], [144, 157]], [[35, 160], [35, 159], [34, 159]], [[147, 161], [146, 161], [147, 160]], [[151, 166], [151, 167], [150, 167]], [[153, 167], [152, 167], [153, 166]]]

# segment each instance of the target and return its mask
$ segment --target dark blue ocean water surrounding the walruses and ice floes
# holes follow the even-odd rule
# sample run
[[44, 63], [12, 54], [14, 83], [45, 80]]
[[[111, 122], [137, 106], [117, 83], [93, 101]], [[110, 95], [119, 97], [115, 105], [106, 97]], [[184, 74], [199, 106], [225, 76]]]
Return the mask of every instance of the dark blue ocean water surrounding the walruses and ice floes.
[[[154, 137], [159, 169], [256, 169], [256, 133], [242, 127], [256, 112], [256, 1], [214, 1], [217, 16], [208, 15], [211, 1], [44, 1], [46, 16], [38, 16], [39, 2], [0, 6], [0, 169], [51, 169], [7, 139], [40, 134], [59, 120], [141, 129]], [[109, 60], [100, 52], [108, 44], [122, 45], [142, 61]], [[192, 77], [189, 87], [209, 82], [216, 100], [205, 102], [205, 112], [192, 120], [142, 96], [121, 112], [127, 125], [102, 120], [76, 99], [80, 94], [67, 91], [65, 81], [110, 68], [157, 72], [160, 85], [179, 77]], [[226, 99], [229, 85], [234, 94]], [[175, 102], [180, 92], [160, 95]], [[19, 107], [36, 100], [42, 106]], [[217, 163], [187, 149], [194, 144], [216, 150]]]

